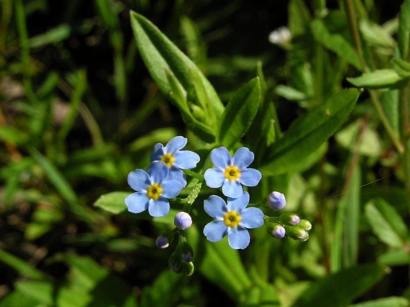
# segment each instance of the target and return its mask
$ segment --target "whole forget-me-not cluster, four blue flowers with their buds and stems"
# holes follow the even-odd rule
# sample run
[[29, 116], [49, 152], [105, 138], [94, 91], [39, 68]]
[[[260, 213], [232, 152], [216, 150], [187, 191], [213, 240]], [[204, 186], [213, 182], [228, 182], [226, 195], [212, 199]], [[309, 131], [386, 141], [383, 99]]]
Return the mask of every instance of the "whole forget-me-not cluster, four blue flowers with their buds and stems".
[[[193, 250], [187, 242], [185, 230], [193, 224], [189, 212], [203, 181], [210, 188], [220, 188], [226, 196], [225, 200], [220, 196], [210, 195], [203, 202], [204, 211], [215, 219], [203, 228], [203, 234], [210, 242], [217, 242], [228, 236], [231, 248], [245, 249], [250, 243], [248, 229], [261, 227], [264, 222], [267, 222], [265, 225], [269, 233], [276, 238], [285, 235], [302, 241], [309, 238], [308, 231], [312, 225], [309, 221], [300, 220], [296, 214], [284, 213], [270, 217], [265, 216], [257, 207], [248, 207], [250, 195], [243, 187], [255, 187], [262, 179], [259, 170], [249, 168], [254, 160], [252, 151], [241, 147], [231, 156], [227, 148], [215, 148], [210, 155], [215, 168], [207, 169], [202, 176], [190, 171], [197, 166], [200, 158], [193, 151], [181, 150], [187, 142], [186, 138], [178, 136], [165, 146], [155, 144], [150, 157], [151, 165], [147, 170], [136, 169], [129, 173], [128, 184], [135, 192], [125, 200], [128, 211], [140, 213], [148, 209], [154, 217], [168, 215], [170, 200], [183, 205], [183, 211], [178, 212], [174, 218], [176, 228], [169, 234], [158, 236], [155, 242], [160, 249], [176, 246], [169, 258], [169, 266], [173, 271], [186, 275], [191, 275], [194, 271]], [[195, 178], [196, 184], [193, 183], [186, 199], [176, 198], [181, 189], [187, 187], [186, 174]], [[281, 210], [286, 205], [285, 196], [272, 192], [268, 203], [273, 210]], [[174, 244], [173, 241], [177, 243]]]

